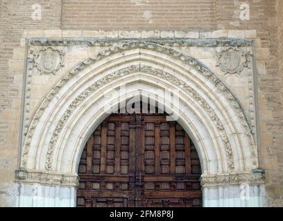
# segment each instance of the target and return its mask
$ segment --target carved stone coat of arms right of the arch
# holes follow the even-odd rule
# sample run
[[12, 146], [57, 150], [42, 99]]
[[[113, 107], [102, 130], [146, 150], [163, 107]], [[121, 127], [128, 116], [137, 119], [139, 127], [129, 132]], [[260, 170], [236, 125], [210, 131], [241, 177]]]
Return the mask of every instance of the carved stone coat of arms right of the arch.
[[237, 47], [229, 47], [216, 52], [217, 64], [226, 74], [240, 74], [243, 67], [248, 67], [247, 53]]

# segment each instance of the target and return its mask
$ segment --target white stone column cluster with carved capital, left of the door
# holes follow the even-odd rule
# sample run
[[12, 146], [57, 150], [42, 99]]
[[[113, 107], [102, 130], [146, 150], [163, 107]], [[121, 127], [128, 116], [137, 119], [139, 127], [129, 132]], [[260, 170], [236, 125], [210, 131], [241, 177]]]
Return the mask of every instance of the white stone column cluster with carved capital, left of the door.
[[17, 203], [19, 207], [74, 207], [78, 175], [26, 171], [16, 171], [18, 185]]

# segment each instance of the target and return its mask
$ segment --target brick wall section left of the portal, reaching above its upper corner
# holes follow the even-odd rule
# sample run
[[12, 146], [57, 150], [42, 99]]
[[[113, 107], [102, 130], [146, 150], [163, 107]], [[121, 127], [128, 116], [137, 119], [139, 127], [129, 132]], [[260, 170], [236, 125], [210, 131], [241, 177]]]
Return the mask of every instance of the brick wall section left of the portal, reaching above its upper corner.
[[[24, 64], [20, 52], [13, 53], [20, 44], [24, 29], [60, 28], [61, 1], [58, 0], [1, 0], [0, 17], [0, 206], [9, 206], [8, 187], [15, 177], [19, 140], [19, 119], [22, 99]], [[33, 4], [42, 6], [42, 20], [34, 21]], [[22, 54], [22, 52], [21, 52]], [[14, 57], [14, 63], [10, 59]], [[12, 199], [11, 199], [12, 200]]]

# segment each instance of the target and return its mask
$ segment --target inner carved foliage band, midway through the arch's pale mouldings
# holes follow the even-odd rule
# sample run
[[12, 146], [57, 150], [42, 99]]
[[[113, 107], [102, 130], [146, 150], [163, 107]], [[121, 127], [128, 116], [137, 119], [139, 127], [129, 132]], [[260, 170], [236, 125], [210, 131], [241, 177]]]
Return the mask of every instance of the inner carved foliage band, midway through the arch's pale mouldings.
[[95, 90], [97, 90], [98, 88], [100, 88], [104, 84], [107, 84], [110, 81], [117, 79], [119, 77], [126, 76], [126, 75], [129, 75], [131, 73], [135, 73], [137, 71], [141, 71], [141, 72], [144, 72], [144, 73], [147, 73], [147, 74], [150, 74], [150, 75], [155, 75], [155, 76], [161, 77], [162, 79], [166, 79], [166, 80], [170, 81], [172, 84], [175, 84], [177, 86], [180, 86], [181, 88], [184, 88], [187, 93], [191, 94], [192, 97], [194, 97], [196, 102], [198, 102], [201, 106], [203, 106], [203, 108], [207, 112], [207, 115], [209, 115], [209, 117], [212, 119], [212, 122], [215, 122], [216, 128], [218, 129], [218, 131], [220, 131], [220, 133], [223, 133], [223, 137], [222, 137], [223, 139], [222, 140], [223, 140], [223, 144], [224, 144], [224, 147], [225, 147], [226, 157], [228, 159], [228, 167], [229, 167], [230, 171], [234, 171], [234, 158], [233, 158], [233, 154], [232, 154], [231, 144], [230, 144], [230, 141], [228, 139], [228, 135], [225, 131], [223, 124], [221, 123], [221, 120], [216, 115], [216, 113], [214, 112], [212, 107], [209, 106], [209, 104], [205, 101], [205, 99], [203, 97], [201, 97], [199, 95], [199, 93], [194, 88], [191, 88], [191, 86], [186, 84], [185, 81], [182, 81], [181, 79], [178, 79], [178, 77], [175, 77], [175, 76], [173, 76], [169, 73], [166, 73], [164, 70], [160, 70], [158, 68], [153, 68], [151, 66], [145, 66], [145, 65], [141, 65], [141, 66], [133, 65], [133, 66], [130, 66], [128, 68], [123, 68], [121, 70], [118, 70], [114, 73], [110, 73], [109, 75], [107, 75], [107, 76], [99, 79], [98, 81], [96, 81], [94, 84], [92, 84], [92, 86], [89, 86], [82, 93], [80, 93], [80, 95], [78, 95], [78, 97], [76, 97], [76, 99], [74, 99], [74, 101], [67, 108], [67, 111], [65, 111], [65, 113], [63, 113], [63, 115], [60, 118], [57, 126], [55, 127], [55, 131], [53, 131], [53, 133], [52, 133], [51, 141], [49, 142], [49, 148], [48, 148], [48, 151], [46, 153], [45, 169], [47, 171], [51, 170], [53, 151], [54, 151], [55, 144], [58, 140], [58, 136], [60, 135], [60, 132], [62, 131], [62, 128], [63, 128], [65, 122], [67, 122], [67, 119], [69, 119], [71, 113], [74, 112], [76, 107], [81, 102], [83, 102], [83, 100], [85, 100], [90, 94], [94, 93]]

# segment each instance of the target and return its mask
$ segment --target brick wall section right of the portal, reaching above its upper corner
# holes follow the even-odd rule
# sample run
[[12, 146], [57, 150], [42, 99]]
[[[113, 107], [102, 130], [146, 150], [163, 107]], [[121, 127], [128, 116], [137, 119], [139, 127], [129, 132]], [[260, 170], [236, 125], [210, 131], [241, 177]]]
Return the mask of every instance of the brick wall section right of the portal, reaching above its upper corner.
[[[268, 203], [271, 206], [283, 204], [283, 111], [282, 111], [282, 75], [278, 66], [278, 41], [277, 41], [277, 10], [276, 1], [234, 1], [234, 6], [230, 0], [216, 1], [216, 23], [217, 28], [257, 30], [257, 35], [261, 39], [261, 47], [266, 48], [266, 59], [262, 63], [263, 72], [258, 70], [259, 98], [264, 98], [266, 108], [259, 107], [259, 121], [261, 124], [261, 166], [266, 169]], [[241, 2], [250, 3], [250, 20], [239, 21], [230, 19], [235, 15], [236, 7]], [[282, 5], [282, 1], [280, 1]], [[278, 12], [282, 16], [282, 12]], [[280, 24], [280, 22], [278, 22]], [[282, 39], [281, 39], [282, 44]], [[282, 50], [281, 50], [282, 54]], [[259, 58], [257, 58], [259, 59]], [[258, 64], [261, 64], [259, 61]], [[271, 112], [267, 118], [266, 113]], [[266, 121], [266, 122], [265, 122]], [[264, 124], [264, 125], [263, 125]], [[273, 137], [268, 142], [268, 134]], [[272, 162], [272, 163], [271, 163]]]

